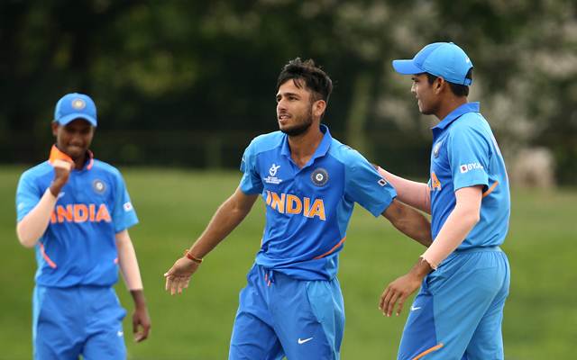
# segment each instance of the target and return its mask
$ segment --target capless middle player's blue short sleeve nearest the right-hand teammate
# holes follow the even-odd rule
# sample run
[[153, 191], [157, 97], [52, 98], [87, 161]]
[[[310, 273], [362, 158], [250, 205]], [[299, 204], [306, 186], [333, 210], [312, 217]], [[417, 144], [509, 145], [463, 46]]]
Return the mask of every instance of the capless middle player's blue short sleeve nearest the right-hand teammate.
[[395, 189], [360, 153], [353, 150], [345, 175], [345, 195], [375, 217], [387, 210], [397, 196]]

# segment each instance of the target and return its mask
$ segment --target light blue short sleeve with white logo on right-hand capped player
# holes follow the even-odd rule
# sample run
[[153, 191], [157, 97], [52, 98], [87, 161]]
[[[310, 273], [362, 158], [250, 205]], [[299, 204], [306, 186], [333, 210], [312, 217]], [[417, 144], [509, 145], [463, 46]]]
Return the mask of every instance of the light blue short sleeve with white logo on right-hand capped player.
[[472, 127], [455, 129], [449, 136], [447, 147], [455, 191], [489, 184], [490, 145], [480, 130]]

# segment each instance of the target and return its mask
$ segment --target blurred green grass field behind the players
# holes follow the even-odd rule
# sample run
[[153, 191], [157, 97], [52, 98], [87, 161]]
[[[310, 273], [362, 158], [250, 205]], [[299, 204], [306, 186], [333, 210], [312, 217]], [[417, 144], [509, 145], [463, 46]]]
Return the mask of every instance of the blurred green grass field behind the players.
[[[31, 358], [33, 251], [15, 236], [14, 192], [23, 167], [0, 168], [0, 359]], [[162, 274], [204, 229], [215, 208], [234, 191], [237, 172], [124, 169], [141, 223], [130, 230], [151, 311], [151, 337], [127, 338], [129, 359], [224, 359], [245, 274], [260, 245], [259, 202], [229, 238], [206, 257], [184, 296], [163, 290]], [[577, 338], [577, 192], [515, 191], [509, 236], [503, 248], [512, 285], [503, 324], [506, 358], [574, 356]], [[407, 311], [384, 318], [377, 310], [383, 287], [404, 274], [422, 248], [384, 219], [358, 207], [341, 253], [346, 329], [342, 358], [393, 359]], [[132, 301], [117, 285], [124, 307]], [[129, 317], [125, 333], [131, 331]]]

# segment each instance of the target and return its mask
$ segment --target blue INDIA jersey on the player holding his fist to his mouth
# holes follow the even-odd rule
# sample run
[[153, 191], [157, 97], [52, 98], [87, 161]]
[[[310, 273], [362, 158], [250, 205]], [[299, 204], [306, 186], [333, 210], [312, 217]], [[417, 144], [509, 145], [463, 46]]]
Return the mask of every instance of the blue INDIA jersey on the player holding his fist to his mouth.
[[[67, 157], [55, 146], [50, 158]], [[25, 171], [16, 191], [17, 220], [40, 201], [54, 179], [49, 161]], [[138, 223], [120, 172], [92, 157], [73, 169], [48, 229], [36, 245], [36, 284], [110, 286], [118, 280], [115, 234]]]

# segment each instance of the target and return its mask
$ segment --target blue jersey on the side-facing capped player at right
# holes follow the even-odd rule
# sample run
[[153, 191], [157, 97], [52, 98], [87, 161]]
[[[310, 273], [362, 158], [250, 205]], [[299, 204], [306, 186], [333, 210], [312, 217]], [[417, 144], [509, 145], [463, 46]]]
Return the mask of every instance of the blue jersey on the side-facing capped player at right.
[[431, 151], [431, 230], [436, 238], [453, 211], [454, 192], [483, 185], [481, 220], [458, 249], [503, 243], [508, 232], [510, 196], [505, 162], [479, 103], [465, 103], [433, 128]]

